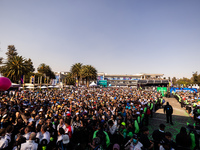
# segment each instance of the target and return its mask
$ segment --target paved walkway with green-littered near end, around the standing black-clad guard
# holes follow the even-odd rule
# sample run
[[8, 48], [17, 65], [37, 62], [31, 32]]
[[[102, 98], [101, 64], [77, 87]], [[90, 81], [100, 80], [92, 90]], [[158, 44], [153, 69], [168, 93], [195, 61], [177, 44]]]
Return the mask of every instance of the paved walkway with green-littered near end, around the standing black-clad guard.
[[166, 102], [173, 107], [173, 116], [172, 121], [174, 125], [166, 123], [166, 115], [164, 114], [163, 109], [159, 109], [154, 113], [153, 118], [149, 118], [149, 133], [150, 139], [151, 134], [155, 129], [159, 128], [161, 123], [166, 125], [165, 131], [169, 131], [173, 135], [173, 140], [175, 140], [176, 135], [179, 133], [182, 126], [186, 127], [186, 123], [194, 123], [193, 119], [188, 115], [184, 108], [181, 108], [180, 104], [175, 98], [164, 98]]

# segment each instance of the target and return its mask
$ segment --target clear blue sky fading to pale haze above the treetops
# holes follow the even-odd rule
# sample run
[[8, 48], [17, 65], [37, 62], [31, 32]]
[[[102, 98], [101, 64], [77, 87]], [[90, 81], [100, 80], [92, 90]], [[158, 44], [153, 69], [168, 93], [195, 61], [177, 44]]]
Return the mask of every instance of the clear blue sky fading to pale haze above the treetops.
[[53, 71], [74, 63], [108, 74], [200, 73], [200, 0], [0, 0], [8, 45]]

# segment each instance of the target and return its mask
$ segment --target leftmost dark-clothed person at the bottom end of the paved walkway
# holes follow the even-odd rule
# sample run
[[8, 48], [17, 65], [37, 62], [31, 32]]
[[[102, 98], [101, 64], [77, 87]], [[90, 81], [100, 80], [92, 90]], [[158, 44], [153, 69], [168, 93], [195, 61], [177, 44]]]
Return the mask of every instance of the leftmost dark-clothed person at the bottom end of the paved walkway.
[[149, 129], [147, 127], [142, 128], [142, 134], [140, 136], [140, 142], [143, 144], [143, 147], [148, 150], [153, 150], [154, 143], [151, 142], [148, 138]]

